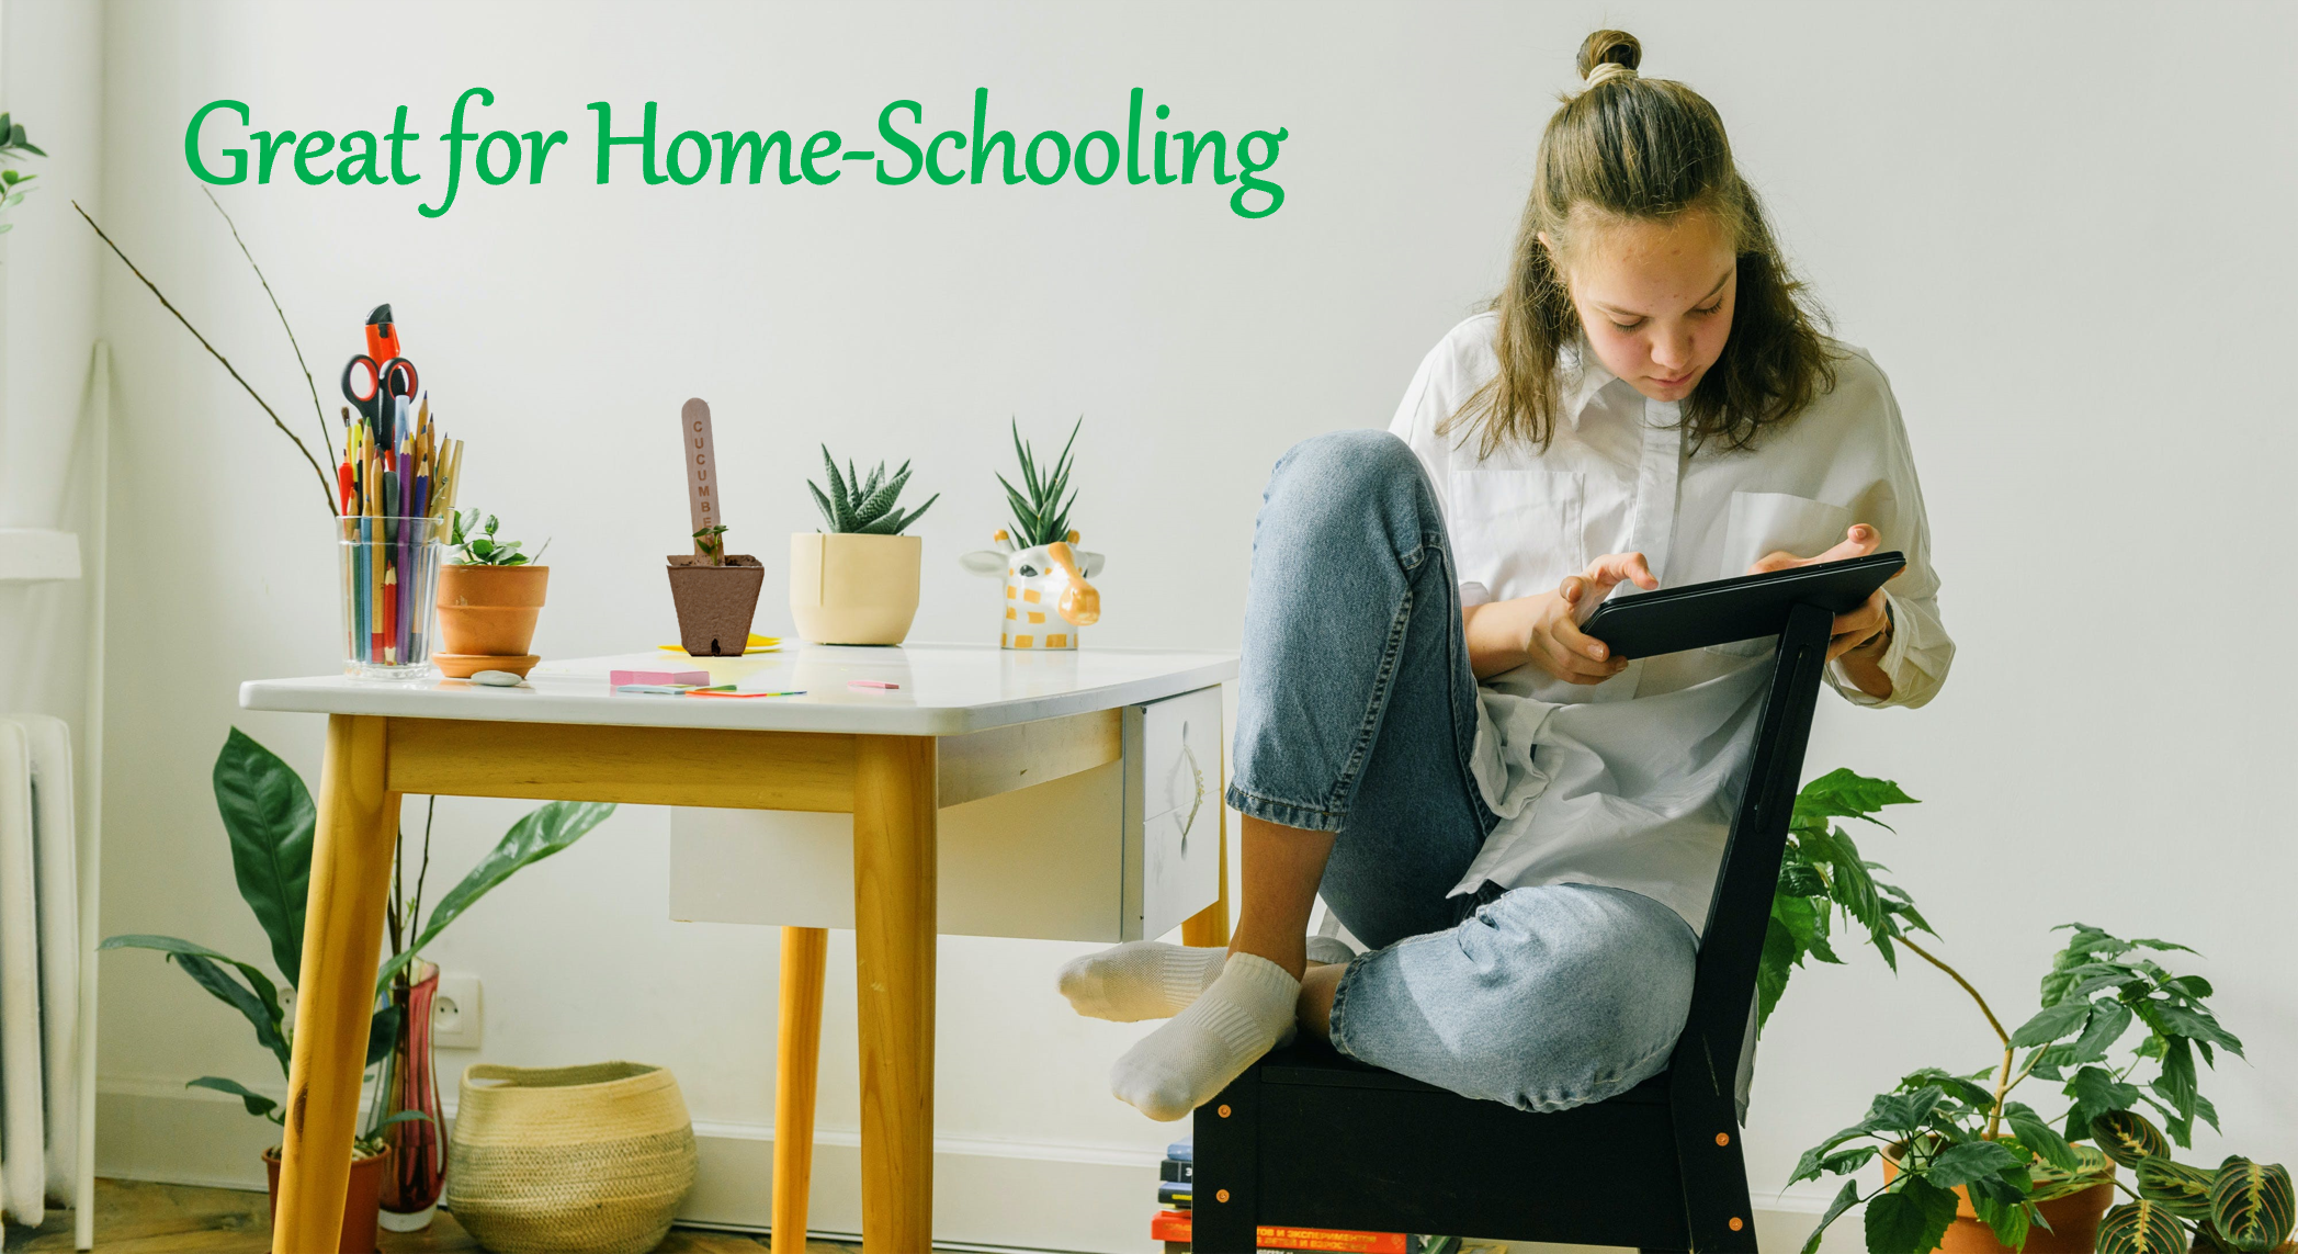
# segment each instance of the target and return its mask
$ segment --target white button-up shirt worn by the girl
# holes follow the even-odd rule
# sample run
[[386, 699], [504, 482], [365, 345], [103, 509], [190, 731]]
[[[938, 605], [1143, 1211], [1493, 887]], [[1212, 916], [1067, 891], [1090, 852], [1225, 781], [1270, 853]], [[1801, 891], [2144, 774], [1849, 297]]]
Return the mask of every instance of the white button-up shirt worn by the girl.
[[[1864, 521], [1877, 551], [1907, 554], [1884, 590], [1891, 696], [1866, 696], [1841, 664], [1827, 680], [1854, 705], [1923, 705], [1940, 691], [1956, 643], [1940, 625], [1923, 494], [1891, 384], [1866, 351], [1843, 347], [1836, 388], [1749, 450], [1694, 448], [1675, 402], [1643, 397], [1579, 351], [1549, 448], [1478, 457], [1473, 432], [1439, 436], [1436, 425], [1498, 372], [1491, 335], [1494, 315], [1455, 326], [1390, 423], [1436, 487], [1464, 604], [1551, 593], [1604, 554], [1641, 551], [1661, 588], [1726, 579], [1774, 549], [1820, 554]], [[1485, 680], [1473, 769], [1501, 825], [1455, 896], [1487, 880], [1602, 884], [1705, 928], [1772, 650], [1648, 657], [1593, 687], [1533, 666]]]

